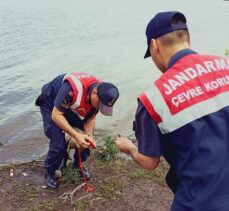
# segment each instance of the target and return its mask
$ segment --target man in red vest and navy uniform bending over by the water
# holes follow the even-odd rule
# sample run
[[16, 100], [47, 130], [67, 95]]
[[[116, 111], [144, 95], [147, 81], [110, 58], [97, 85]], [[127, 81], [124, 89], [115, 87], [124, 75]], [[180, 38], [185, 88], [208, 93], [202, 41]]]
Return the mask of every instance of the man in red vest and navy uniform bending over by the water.
[[[77, 145], [84, 149], [81, 160], [86, 161], [90, 154], [88, 138], [95, 144], [95, 116], [98, 111], [111, 116], [118, 97], [119, 92], [115, 85], [102, 82], [87, 73], [63, 74], [42, 87], [36, 105], [40, 106], [44, 133], [50, 140], [44, 163], [45, 183], [49, 188], [57, 188], [55, 170], [60, 167], [67, 148], [64, 132], [73, 137]], [[73, 127], [84, 131], [85, 134], [75, 131]], [[74, 155], [73, 167], [79, 171], [77, 153]], [[85, 168], [84, 174], [89, 180], [90, 174]]]

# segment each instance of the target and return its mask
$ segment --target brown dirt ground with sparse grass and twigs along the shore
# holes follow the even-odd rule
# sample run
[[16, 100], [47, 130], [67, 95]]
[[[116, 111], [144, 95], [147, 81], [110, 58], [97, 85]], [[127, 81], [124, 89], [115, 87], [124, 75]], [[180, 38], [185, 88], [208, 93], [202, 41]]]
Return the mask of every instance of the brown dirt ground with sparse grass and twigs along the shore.
[[[70, 184], [63, 178], [57, 190], [42, 188], [42, 162], [1, 167], [0, 210], [170, 210], [173, 196], [164, 183], [164, 162], [154, 172], [142, 170], [124, 158], [112, 162], [90, 160], [87, 167], [92, 175], [90, 184], [96, 187], [92, 193], [85, 191], [82, 181]], [[83, 187], [73, 193], [80, 185]]]

